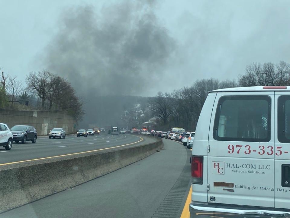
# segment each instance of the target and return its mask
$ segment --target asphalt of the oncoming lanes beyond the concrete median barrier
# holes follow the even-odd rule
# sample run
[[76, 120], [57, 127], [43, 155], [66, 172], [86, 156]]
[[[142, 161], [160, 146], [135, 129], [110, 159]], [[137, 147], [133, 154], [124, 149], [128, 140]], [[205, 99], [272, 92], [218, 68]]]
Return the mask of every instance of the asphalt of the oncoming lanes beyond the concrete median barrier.
[[88, 137], [76, 137], [76, 135], [70, 135], [66, 136], [65, 139], [49, 139], [48, 136], [38, 137], [35, 144], [30, 141], [26, 144], [14, 143], [12, 144], [11, 150], [5, 150], [4, 147], [0, 147], [0, 167], [3, 163], [34, 160], [43, 157], [54, 157], [126, 144], [129, 144], [128, 146], [136, 146], [150, 143], [152, 141], [155, 141], [155, 139], [151, 137], [143, 137], [142, 140], [138, 135], [110, 135], [107, 133], [94, 136], [89, 135]]

